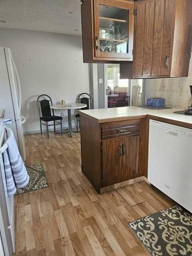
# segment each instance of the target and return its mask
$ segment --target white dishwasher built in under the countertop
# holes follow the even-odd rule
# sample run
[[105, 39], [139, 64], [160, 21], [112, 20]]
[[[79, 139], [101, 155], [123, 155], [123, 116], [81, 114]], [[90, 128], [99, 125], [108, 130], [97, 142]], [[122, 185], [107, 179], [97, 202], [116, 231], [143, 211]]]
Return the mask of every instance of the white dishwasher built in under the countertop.
[[150, 120], [148, 181], [192, 212], [192, 130]]

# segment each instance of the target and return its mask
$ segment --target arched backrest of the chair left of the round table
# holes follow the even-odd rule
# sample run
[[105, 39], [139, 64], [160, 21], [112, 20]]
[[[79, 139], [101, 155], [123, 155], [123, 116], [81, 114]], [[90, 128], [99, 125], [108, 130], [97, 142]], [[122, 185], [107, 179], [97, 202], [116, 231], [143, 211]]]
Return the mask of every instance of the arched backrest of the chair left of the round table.
[[[46, 99], [46, 98], [48, 98], [48, 99]], [[41, 95], [38, 96], [37, 105], [38, 105], [39, 117], [41, 117], [41, 116], [51, 116], [50, 103], [51, 103], [51, 105], [53, 104], [52, 99], [49, 95], [41, 94]], [[40, 108], [39, 108], [39, 104], [40, 104]], [[54, 115], [53, 109], [52, 109], [52, 113]]]

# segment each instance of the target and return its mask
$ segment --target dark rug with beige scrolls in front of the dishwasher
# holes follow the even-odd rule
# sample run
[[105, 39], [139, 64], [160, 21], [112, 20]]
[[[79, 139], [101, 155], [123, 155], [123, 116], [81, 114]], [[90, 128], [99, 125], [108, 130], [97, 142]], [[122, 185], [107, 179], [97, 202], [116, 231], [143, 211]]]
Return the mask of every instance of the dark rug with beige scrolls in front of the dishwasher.
[[179, 205], [129, 226], [153, 256], [192, 255], [192, 215]]

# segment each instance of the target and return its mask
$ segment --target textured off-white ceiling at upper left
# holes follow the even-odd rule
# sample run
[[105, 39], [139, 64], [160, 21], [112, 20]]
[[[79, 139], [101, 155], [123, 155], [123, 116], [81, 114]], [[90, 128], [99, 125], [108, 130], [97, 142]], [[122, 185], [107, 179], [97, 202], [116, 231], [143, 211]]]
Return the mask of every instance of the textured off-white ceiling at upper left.
[[0, 0], [0, 20], [7, 22], [0, 27], [81, 35], [80, 5], [80, 0]]

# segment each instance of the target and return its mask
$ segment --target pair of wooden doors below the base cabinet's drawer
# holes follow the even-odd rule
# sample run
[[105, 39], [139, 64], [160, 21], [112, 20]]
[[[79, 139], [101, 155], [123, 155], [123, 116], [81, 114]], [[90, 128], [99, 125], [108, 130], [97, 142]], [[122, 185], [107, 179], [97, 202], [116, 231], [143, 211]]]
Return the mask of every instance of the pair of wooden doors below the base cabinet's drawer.
[[139, 135], [103, 141], [104, 186], [136, 178], [139, 163]]

